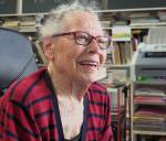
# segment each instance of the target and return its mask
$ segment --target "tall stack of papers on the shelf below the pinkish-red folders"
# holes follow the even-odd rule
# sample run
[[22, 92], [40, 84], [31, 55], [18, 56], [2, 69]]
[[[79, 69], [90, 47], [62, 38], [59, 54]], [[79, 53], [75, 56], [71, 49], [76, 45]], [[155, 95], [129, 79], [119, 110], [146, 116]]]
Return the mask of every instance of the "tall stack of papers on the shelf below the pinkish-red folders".
[[133, 117], [134, 129], [166, 131], [166, 109], [164, 107], [139, 107]]

